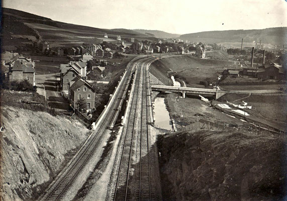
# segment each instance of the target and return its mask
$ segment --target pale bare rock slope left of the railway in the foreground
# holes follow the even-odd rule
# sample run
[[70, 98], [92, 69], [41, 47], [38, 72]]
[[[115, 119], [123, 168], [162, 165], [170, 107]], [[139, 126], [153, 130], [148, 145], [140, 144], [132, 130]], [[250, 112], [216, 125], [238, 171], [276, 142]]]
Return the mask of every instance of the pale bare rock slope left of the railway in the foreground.
[[6, 107], [2, 121], [3, 200], [35, 200], [88, 135], [81, 123], [44, 112]]

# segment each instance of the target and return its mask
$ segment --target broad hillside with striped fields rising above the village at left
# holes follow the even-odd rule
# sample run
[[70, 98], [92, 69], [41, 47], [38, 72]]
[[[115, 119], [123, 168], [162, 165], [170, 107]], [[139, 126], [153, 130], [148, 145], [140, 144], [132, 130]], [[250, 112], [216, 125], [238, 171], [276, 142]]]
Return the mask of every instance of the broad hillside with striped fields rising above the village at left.
[[[68, 24], [37, 16], [15, 9], [2, 9], [2, 48], [17, 50], [37, 39], [47, 40], [51, 47], [77, 46], [82, 43], [102, 43], [103, 40], [116, 42], [117, 35], [122, 38], [156, 41], [157, 38], [127, 29], [100, 29]], [[107, 33], [109, 39], [104, 39]]]

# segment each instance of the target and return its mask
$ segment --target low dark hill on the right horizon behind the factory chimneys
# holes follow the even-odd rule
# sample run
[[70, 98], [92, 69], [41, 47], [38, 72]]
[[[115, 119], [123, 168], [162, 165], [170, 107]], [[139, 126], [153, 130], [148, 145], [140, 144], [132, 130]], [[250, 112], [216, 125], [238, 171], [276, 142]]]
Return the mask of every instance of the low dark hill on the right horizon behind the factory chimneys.
[[273, 45], [286, 44], [287, 27], [276, 27], [253, 30], [228, 30], [228, 31], [208, 31], [179, 36], [182, 40], [204, 43], [221, 42], [253, 42], [261, 40], [262, 43]]

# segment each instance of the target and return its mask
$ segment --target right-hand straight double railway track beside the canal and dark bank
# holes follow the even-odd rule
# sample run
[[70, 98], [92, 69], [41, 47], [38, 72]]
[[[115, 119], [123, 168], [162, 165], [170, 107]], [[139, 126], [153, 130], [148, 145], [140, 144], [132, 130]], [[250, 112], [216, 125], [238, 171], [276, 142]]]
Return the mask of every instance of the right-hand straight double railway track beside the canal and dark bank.
[[[148, 90], [148, 72], [145, 68], [146, 66], [137, 66], [133, 104], [125, 131], [121, 159], [117, 165], [117, 180], [112, 192], [114, 200], [152, 200], [147, 96], [150, 95], [150, 91]], [[139, 138], [139, 150], [136, 145], [137, 138]], [[137, 163], [137, 158], [139, 163]], [[132, 182], [133, 180], [136, 181], [136, 185]]]

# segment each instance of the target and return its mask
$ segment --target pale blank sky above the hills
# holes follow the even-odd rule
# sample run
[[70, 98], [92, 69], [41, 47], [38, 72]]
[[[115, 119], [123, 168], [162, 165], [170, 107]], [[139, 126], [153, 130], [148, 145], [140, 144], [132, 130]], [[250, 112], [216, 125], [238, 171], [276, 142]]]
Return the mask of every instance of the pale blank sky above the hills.
[[174, 34], [287, 27], [284, 0], [3, 0], [3, 7], [90, 27]]

